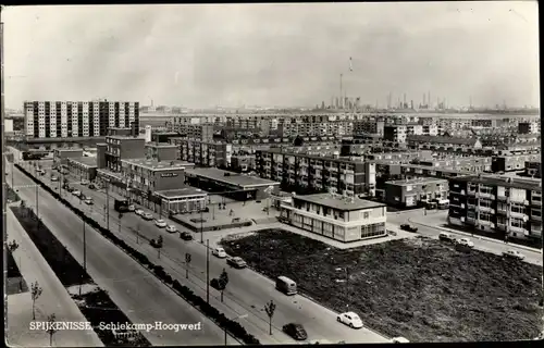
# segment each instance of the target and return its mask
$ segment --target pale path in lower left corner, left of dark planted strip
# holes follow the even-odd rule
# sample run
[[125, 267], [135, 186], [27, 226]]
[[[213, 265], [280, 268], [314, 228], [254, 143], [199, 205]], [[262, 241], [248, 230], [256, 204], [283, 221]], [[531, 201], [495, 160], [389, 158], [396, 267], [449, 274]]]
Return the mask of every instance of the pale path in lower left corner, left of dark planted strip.
[[[21, 226], [13, 212], [8, 209], [8, 240], [18, 244], [14, 254], [21, 274], [30, 286], [38, 282], [44, 289], [36, 300], [36, 321], [47, 321], [54, 313], [58, 321], [86, 322], [74, 300], [61, 284], [47, 261], [36, 248], [26, 231]], [[49, 334], [45, 331], [30, 331], [30, 291], [8, 296], [7, 341], [14, 347], [49, 346]], [[53, 346], [102, 347], [103, 344], [94, 331], [59, 331], [53, 335]]]

